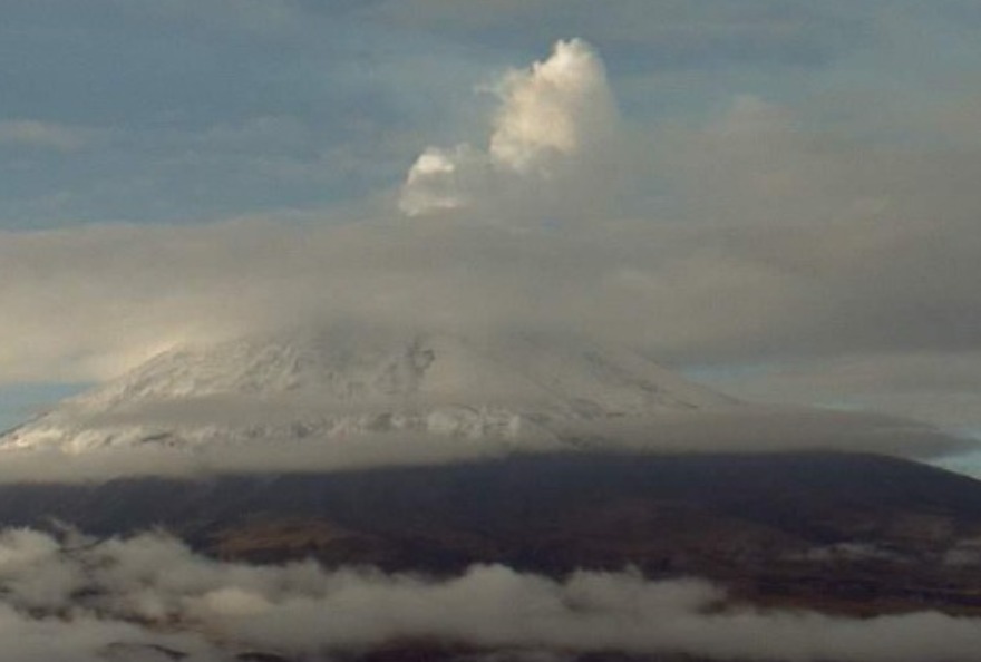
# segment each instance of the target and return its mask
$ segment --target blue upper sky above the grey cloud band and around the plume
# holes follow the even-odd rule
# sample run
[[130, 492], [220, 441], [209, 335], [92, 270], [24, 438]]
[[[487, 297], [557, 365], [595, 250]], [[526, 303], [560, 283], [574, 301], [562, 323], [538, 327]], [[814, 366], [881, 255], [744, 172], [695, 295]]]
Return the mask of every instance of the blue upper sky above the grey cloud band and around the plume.
[[13, 0], [0, 117], [49, 133], [3, 140], [0, 223], [186, 223], [359, 198], [486, 111], [475, 86], [559, 38], [598, 48], [640, 120], [736, 94], [806, 99], [836, 80], [833, 94], [915, 100], [978, 65], [959, 41], [977, 27], [967, 7], [814, 4]]

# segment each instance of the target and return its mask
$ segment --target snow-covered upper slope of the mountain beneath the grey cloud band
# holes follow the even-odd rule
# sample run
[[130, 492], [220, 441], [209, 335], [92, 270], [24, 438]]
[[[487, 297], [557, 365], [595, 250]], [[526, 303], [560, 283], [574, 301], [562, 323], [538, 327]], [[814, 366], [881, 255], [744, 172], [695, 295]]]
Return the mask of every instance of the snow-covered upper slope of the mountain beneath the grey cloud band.
[[353, 439], [576, 442], [589, 424], [735, 401], [637, 353], [534, 334], [337, 327], [165, 352], [0, 439], [7, 448]]

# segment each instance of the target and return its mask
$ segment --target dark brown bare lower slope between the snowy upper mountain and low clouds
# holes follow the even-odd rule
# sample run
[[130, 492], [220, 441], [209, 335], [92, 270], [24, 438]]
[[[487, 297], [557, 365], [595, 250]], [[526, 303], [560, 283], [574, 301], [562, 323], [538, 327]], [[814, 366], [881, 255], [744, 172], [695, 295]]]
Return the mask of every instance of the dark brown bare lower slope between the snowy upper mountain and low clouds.
[[634, 565], [754, 601], [981, 609], [981, 483], [865, 455], [524, 456], [329, 475], [0, 486], [0, 525], [165, 527], [226, 558], [562, 574]]

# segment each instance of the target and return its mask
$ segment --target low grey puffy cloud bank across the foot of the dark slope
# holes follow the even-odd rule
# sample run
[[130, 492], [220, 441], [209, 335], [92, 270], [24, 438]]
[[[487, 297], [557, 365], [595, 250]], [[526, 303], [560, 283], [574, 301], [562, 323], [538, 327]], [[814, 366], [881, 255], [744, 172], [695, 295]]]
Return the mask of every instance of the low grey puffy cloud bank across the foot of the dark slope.
[[[760, 611], [699, 580], [634, 572], [564, 581], [499, 565], [431, 580], [368, 568], [221, 563], [163, 534], [97, 542], [0, 534], [0, 632], [9, 662], [329, 659], [395, 642], [476, 650], [677, 653], [721, 660], [971, 660], [981, 621], [939, 613], [847, 619]], [[127, 656], [128, 655], [128, 656]]]

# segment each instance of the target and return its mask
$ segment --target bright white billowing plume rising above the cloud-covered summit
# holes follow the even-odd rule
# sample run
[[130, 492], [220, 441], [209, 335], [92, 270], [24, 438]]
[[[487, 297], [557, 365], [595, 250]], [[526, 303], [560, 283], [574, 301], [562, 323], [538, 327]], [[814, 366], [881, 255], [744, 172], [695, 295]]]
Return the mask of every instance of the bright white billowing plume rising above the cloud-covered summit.
[[[410, 216], [449, 210], [516, 221], [531, 210], [562, 214], [576, 187], [602, 178], [619, 117], [602, 61], [584, 41], [559, 41], [551, 57], [498, 85], [501, 108], [486, 147], [430, 147], [409, 171], [399, 201]], [[609, 182], [608, 182], [609, 183]], [[476, 208], [476, 210], [475, 210]]]

